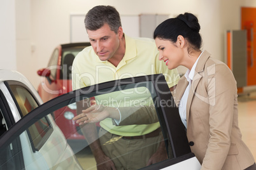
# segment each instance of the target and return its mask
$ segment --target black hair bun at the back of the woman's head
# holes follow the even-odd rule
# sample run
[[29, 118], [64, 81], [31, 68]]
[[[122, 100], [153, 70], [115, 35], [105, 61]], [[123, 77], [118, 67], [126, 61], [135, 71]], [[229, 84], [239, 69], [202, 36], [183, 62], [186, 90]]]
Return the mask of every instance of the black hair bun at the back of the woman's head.
[[186, 23], [190, 29], [195, 30], [196, 32], [199, 32], [201, 29], [197, 17], [192, 13], [180, 14], [176, 18]]

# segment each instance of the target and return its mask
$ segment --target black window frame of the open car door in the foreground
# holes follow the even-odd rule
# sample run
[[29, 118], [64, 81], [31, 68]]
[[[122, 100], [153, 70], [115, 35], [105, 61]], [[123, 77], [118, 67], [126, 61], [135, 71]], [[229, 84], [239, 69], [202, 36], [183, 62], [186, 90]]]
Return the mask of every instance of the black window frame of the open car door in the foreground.
[[[47, 101], [43, 105], [35, 108], [34, 110], [32, 110], [32, 112], [25, 115], [23, 119], [17, 122], [17, 124], [13, 125], [13, 127], [11, 127], [8, 130], [8, 133], [2, 136], [3, 138], [0, 138], [0, 148], [8, 145], [6, 143], [10, 143], [11, 140], [13, 140], [13, 135], [17, 136], [18, 134], [21, 134], [25, 129], [34, 124], [34, 122], [41, 119], [41, 117], [45, 117], [50, 112], [55, 110], [53, 108], [60, 108], [61, 106], [63, 107], [63, 105], [68, 105], [69, 103], [75, 102], [78, 94], [90, 96], [90, 93], [92, 93], [93, 91], [111, 88], [113, 86], [116, 86], [117, 84], [121, 86], [125, 84], [139, 83], [143, 81], [151, 81], [154, 89], [163, 89], [165, 94], [155, 90], [158, 100], [169, 100], [169, 98], [171, 98], [171, 101], [174, 103], [171, 91], [169, 91], [166, 80], [164, 79], [164, 75], [162, 74], [145, 75], [116, 81], [103, 82], [101, 84], [96, 84], [86, 88], [78, 89], [76, 91], [71, 91], [64, 95], [58, 96], [57, 98], [53, 98], [52, 100]], [[171, 166], [176, 162], [180, 162], [181, 160], [185, 160], [188, 157], [194, 157], [194, 154], [191, 152], [190, 147], [188, 145], [187, 135], [185, 133], [185, 129], [183, 129], [184, 126], [180, 120], [180, 115], [178, 113], [178, 108], [176, 107], [176, 105], [173, 105], [171, 107], [171, 110], [173, 111], [171, 114], [168, 113], [170, 108], [162, 107], [159, 105], [159, 107], [157, 107], [156, 109], [158, 111], [161, 111], [159, 121], [164, 121], [167, 125], [167, 134], [169, 136], [171, 147], [173, 148], [173, 159], [167, 159], [157, 164], [154, 164], [153, 166], [148, 166], [145, 168], [163, 168], [166, 166]], [[173, 126], [178, 127], [178, 129], [171, 128]], [[181, 138], [183, 139], [182, 141], [184, 142], [178, 142], [180, 141]]]

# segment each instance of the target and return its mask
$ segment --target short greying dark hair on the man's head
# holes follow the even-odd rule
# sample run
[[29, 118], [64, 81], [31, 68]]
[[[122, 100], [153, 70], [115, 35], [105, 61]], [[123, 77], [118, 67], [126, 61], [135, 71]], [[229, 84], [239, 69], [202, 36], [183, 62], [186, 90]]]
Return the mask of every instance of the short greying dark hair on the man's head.
[[85, 29], [97, 30], [107, 23], [116, 34], [122, 27], [118, 11], [113, 6], [95, 6], [85, 15]]

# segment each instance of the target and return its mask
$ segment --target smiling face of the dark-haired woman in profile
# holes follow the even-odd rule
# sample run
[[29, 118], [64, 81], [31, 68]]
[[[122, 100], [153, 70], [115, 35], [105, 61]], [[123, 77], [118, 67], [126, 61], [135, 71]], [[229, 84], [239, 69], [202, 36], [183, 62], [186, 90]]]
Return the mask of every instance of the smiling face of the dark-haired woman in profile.
[[179, 41], [171, 42], [166, 39], [155, 39], [155, 44], [159, 50], [159, 60], [163, 60], [168, 69], [175, 69], [182, 65], [184, 53]]

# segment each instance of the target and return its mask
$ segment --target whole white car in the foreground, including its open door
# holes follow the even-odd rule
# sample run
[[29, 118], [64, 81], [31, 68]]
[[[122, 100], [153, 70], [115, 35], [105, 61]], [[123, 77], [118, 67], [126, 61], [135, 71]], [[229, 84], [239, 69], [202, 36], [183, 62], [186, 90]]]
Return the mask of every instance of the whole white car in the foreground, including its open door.
[[[190, 150], [190, 145], [193, 143], [188, 143], [178, 108], [162, 74], [96, 84], [58, 96], [43, 105], [40, 105], [39, 96], [22, 75], [17, 72], [0, 70], [0, 77], [2, 122], [3, 127], [8, 129], [0, 138], [0, 170], [80, 169], [81, 167], [82, 169], [97, 169], [94, 155], [90, 149], [87, 149], [90, 142], [86, 143], [87, 146], [84, 146], [84, 143], [83, 145], [78, 143], [77, 148], [74, 149], [77, 153], [75, 152], [74, 155], [61, 129], [54, 122], [62, 119], [68, 112], [68, 108], [75, 110], [76, 102], [85, 102], [92, 98], [98, 105], [128, 110], [122, 112], [126, 114], [125, 120], [128, 120], [128, 123], [122, 126], [138, 125], [141, 122], [147, 124], [147, 121], [152, 119], [152, 115], [153, 121], [159, 122], [168, 158], [150, 166], [139, 167], [139, 169], [196, 170], [201, 168]], [[140, 108], [150, 108], [150, 111], [137, 112]], [[54, 112], [60, 113], [59, 117], [53, 119]], [[138, 113], [139, 119], [134, 119], [138, 117], [136, 115]], [[76, 126], [75, 121], [73, 124]], [[101, 123], [99, 125], [101, 126]], [[115, 128], [114, 125], [113, 128]], [[93, 133], [91, 129], [85, 129], [85, 131], [89, 134]], [[82, 132], [80, 128], [76, 128], [73, 133], [81, 134]], [[111, 145], [118, 140], [127, 140], [127, 136], [120, 136], [103, 145]], [[139, 148], [136, 154], [155, 145], [156, 142], [160, 141], [153, 141], [150, 145]], [[129, 153], [117, 155], [117, 157], [125, 157], [126, 154]], [[138, 161], [147, 160], [141, 157]]]

